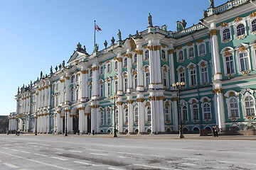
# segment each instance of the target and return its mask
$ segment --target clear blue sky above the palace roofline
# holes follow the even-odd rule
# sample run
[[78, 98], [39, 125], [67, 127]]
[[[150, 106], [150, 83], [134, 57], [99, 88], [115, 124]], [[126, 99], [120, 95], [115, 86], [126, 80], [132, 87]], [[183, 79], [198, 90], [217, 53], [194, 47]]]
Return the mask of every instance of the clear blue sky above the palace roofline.
[[[215, 6], [226, 1], [215, 0]], [[149, 13], [154, 26], [175, 30], [182, 19], [187, 27], [198, 23], [208, 7], [208, 0], [0, 0], [0, 115], [16, 111], [18, 86], [67, 62], [78, 42], [92, 53], [93, 21], [102, 28], [96, 34], [102, 50], [105, 40], [110, 45], [112, 37], [118, 39], [118, 29], [122, 39], [146, 30]]]

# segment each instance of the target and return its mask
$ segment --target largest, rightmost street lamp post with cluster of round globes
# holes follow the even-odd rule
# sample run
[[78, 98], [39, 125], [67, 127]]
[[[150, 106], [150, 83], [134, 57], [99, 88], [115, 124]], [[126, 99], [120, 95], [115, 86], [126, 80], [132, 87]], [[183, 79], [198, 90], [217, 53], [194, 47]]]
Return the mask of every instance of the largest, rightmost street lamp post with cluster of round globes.
[[179, 128], [178, 128], [178, 137], [179, 138], [184, 138], [183, 135], [183, 128], [182, 128], [182, 121], [181, 121], [181, 95], [180, 95], [180, 90], [185, 86], [185, 82], [176, 82], [176, 84], [172, 84], [171, 86], [176, 89], [178, 92], [178, 119], [179, 119]]

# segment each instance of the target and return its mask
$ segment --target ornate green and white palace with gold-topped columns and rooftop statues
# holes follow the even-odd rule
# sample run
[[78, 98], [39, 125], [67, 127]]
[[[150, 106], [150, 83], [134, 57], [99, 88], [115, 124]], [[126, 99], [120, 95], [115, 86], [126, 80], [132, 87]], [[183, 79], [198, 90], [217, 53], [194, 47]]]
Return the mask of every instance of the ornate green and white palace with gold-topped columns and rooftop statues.
[[9, 130], [159, 134], [179, 123], [183, 132], [255, 123], [256, 1], [212, 1], [202, 14], [171, 31], [149, 13], [145, 30], [123, 40], [119, 31], [92, 54], [78, 43], [66, 65], [18, 88]]

